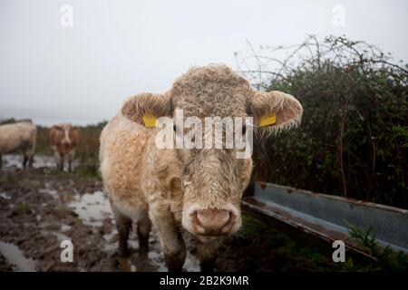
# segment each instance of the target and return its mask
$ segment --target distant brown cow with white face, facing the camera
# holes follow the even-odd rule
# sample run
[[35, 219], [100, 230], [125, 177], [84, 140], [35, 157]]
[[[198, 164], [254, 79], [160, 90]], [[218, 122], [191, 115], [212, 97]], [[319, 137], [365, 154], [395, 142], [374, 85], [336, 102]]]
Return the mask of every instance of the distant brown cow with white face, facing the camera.
[[78, 128], [70, 123], [53, 125], [48, 133], [48, 139], [53, 148], [57, 168], [63, 170], [63, 163], [68, 161], [68, 170], [73, 169], [73, 157], [78, 144]]

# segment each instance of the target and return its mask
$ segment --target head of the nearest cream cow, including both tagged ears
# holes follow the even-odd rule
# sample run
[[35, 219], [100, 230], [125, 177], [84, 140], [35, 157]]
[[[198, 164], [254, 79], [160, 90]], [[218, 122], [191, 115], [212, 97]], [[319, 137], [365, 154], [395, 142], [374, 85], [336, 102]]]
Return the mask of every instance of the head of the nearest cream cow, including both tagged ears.
[[[301, 104], [291, 95], [256, 91], [227, 66], [210, 65], [190, 69], [174, 82], [169, 92], [141, 93], [130, 98], [123, 104], [121, 113], [131, 121], [146, 125], [146, 116], [174, 118], [176, 110], [182, 110], [186, 120], [194, 116], [203, 121], [203, 137], [206, 117], [252, 117], [255, 131], [274, 133], [298, 124], [303, 112]], [[219, 128], [227, 130], [222, 121]], [[190, 130], [176, 126], [175, 140]], [[246, 131], [245, 126], [240, 130]], [[200, 137], [192, 135], [193, 139]], [[226, 142], [223, 136], [226, 135], [219, 141]], [[212, 141], [217, 141], [215, 135]], [[252, 160], [250, 156], [239, 159], [237, 151], [226, 146], [175, 149], [184, 194], [182, 226], [192, 234], [227, 235], [240, 227], [240, 201], [248, 186]]]

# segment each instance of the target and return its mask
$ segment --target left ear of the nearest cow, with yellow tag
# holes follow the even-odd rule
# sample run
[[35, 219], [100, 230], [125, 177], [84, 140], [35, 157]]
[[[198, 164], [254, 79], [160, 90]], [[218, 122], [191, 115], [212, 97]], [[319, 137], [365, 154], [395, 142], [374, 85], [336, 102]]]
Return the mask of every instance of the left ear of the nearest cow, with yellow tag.
[[121, 114], [124, 117], [145, 127], [154, 127], [158, 118], [169, 116], [170, 113], [169, 93], [142, 92], [129, 98], [121, 106]]

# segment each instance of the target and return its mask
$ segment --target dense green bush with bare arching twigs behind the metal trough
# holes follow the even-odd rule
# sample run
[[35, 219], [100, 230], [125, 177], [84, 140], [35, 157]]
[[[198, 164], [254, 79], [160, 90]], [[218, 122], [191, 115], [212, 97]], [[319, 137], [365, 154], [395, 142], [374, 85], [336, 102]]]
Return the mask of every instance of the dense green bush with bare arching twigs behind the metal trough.
[[408, 65], [344, 37], [298, 48], [258, 83], [296, 96], [303, 121], [255, 142], [255, 178], [408, 208]]

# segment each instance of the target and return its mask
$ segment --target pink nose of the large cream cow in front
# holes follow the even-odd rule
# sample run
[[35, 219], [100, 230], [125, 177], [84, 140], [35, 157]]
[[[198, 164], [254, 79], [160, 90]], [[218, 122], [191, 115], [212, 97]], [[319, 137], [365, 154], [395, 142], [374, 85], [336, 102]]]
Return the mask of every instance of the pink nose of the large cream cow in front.
[[214, 208], [199, 209], [191, 218], [197, 234], [203, 236], [227, 235], [235, 220], [231, 211]]

